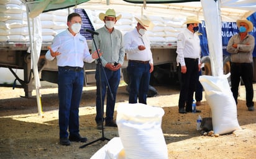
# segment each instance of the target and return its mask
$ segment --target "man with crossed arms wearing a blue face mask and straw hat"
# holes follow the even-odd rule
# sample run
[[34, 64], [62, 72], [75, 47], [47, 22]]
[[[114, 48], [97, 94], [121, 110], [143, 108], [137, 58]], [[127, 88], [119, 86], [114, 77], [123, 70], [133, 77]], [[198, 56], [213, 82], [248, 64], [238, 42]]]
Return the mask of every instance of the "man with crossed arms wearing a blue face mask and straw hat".
[[239, 34], [233, 35], [227, 44], [227, 52], [231, 53], [231, 91], [237, 104], [240, 78], [242, 78], [246, 90], [246, 105], [248, 111], [254, 111], [254, 88], [253, 78], [253, 58], [255, 40], [251, 32], [254, 28], [252, 22], [247, 19], [237, 20]]

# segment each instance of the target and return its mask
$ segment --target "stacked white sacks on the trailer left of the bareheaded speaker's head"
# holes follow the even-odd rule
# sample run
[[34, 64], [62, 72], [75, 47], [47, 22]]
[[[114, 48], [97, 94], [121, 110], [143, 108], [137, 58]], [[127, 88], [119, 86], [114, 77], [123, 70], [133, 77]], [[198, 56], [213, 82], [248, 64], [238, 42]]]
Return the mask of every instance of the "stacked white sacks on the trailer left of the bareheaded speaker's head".
[[[68, 9], [40, 14], [43, 41], [52, 41], [57, 33], [66, 29], [67, 15]], [[0, 42], [7, 41], [29, 41], [27, 13], [20, 0], [0, 1]]]

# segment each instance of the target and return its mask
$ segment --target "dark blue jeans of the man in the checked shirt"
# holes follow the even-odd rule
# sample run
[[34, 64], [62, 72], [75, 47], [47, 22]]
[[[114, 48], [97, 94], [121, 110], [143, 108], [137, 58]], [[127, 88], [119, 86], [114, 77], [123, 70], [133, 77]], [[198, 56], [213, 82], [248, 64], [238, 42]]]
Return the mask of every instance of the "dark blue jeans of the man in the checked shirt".
[[[106, 72], [106, 77], [104, 75], [104, 71]], [[96, 85], [97, 85], [95, 121], [97, 123], [104, 122], [104, 120], [111, 121], [112, 119], [114, 119], [113, 116], [114, 116], [114, 108], [116, 103], [116, 94], [117, 94], [117, 88], [119, 86], [120, 77], [121, 77], [120, 69], [117, 71], [111, 71], [104, 67], [104, 71], [103, 71], [103, 67], [100, 67], [99, 64], [97, 64], [96, 74], [95, 74]], [[99, 72], [101, 72], [101, 80], [99, 79]], [[109, 82], [109, 87], [111, 89], [113, 99], [111, 98], [111, 92], [107, 87], [106, 80]], [[105, 99], [106, 92], [107, 92], [107, 105], [106, 105], [106, 118], [104, 118], [103, 112], [104, 112], [104, 99]], [[101, 103], [101, 99], [102, 99], [102, 103]]]

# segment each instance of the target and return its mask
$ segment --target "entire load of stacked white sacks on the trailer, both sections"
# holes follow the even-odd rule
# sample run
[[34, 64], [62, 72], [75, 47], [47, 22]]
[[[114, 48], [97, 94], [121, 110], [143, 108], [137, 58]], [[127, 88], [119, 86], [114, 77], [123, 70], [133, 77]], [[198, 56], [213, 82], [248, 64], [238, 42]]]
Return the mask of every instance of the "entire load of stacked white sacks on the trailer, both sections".
[[[95, 29], [103, 27], [104, 23], [98, 17], [99, 13], [106, 11], [86, 10], [92, 15], [93, 26]], [[137, 21], [131, 13], [120, 12], [122, 18], [117, 21], [116, 28], [124, 34], [132, 30]], [[42, 23], [43, 41], [52, 41], [57, 33], [66, 29], [66, 18], [68, 9], [61, 9], [40, 14]], [[150, 41], [153, 42], [176, 42], [176, 37], [180, 30], [185, 29], [184, 19], [167, 17], [149, 16], [155, 27], [148, 31]], [[32, 25], [31, 25], [32, 27]], [[0, 42], [28, 42], [29, 30], [27, 28], [27, 14], [25, 4], [21, 0], [2, 0], [0, 1]]]

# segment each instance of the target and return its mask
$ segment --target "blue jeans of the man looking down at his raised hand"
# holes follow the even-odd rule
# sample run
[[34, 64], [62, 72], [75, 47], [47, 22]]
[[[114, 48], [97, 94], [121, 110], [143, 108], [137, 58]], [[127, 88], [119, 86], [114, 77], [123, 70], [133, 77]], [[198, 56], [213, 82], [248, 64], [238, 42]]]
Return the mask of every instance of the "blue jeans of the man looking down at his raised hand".
[[129, 103], [139, 103], [147, 105], [147, 92], [149, 92], [150, 64], [139, 62], [129, 62], [127, 72], [130, 77]]

